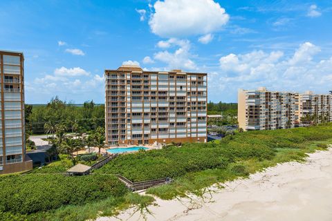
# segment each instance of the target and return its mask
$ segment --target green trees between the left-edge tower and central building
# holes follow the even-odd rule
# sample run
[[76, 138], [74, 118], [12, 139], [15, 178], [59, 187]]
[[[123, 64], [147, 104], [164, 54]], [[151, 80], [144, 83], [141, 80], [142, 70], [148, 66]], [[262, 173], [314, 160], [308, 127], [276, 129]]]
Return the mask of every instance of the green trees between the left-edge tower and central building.
[[25, 106], [26, 131], [28, 134], [54, 133], [56, 125], [64, 125], [65, 132], [85, 133], [104, 127], [104, 104], [93, 101], [77, 106], [54, 97], [46, 105]]

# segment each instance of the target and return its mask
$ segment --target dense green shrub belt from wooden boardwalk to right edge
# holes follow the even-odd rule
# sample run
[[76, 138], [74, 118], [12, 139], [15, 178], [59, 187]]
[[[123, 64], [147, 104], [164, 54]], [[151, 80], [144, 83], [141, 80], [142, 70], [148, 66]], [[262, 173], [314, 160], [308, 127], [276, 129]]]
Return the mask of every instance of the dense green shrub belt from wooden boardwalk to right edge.
[[277, 150], [306, 148], [305, 143], [332, 137], [332, 126], [275, 131], [248, 131], [220, 142], [169, 145], [161, 150], [120, 155], [95, 173], [118, 173], [133, 182], [180, 177], [205, 169], [225, 168], [241, 160], [273, 160]]

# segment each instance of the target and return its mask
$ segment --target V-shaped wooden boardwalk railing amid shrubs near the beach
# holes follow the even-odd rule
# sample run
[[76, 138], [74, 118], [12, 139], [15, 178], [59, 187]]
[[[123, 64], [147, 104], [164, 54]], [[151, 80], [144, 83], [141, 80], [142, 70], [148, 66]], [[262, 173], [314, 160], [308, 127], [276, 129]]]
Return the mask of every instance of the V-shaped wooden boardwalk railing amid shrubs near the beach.
[[140, 191], [142, 189], [147, 189], [152, 186], [158, 186], [161, 184], [169, 184], [173, 180], [169, 177], [158, 179], [158, 180], [147, 180], [141, 182], [131, 182], [126, 177], [122, 175], [116, 175], [121, 182], [123, 182], [131, 191]]

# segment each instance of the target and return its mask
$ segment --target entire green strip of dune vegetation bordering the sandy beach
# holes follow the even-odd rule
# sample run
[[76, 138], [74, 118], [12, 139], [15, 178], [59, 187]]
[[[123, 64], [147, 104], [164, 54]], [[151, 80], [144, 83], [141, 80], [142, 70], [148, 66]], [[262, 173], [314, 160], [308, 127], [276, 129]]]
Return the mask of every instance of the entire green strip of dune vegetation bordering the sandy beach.
[[[150, 195], [130, 193], [114, 174], [132, 181], [171, 177], [174, 182], [147, 190], [163, 199], [203, 195], [208, 186], [324, 150], [332, 142], [332, 124], [276, 131], [250, 131], [206, 144], [169, 144], [163, 149], [116, 157], [93, 175], [66, 177], [55, 162], [42, 173], [0, 176], [0, 220], [87, 220], [98, 215], [154, 202]], [[51, 167], [51, 165], [49, 165]]]

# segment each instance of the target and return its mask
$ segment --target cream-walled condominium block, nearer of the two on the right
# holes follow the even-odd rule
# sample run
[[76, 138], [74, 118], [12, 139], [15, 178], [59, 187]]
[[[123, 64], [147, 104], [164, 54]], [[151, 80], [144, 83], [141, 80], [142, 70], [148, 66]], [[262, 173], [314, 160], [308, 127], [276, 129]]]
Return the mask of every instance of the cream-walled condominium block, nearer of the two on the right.
[[298, 113], [297, 93], [239, 90], [238, 121], [244, 131], [293, 128]]

